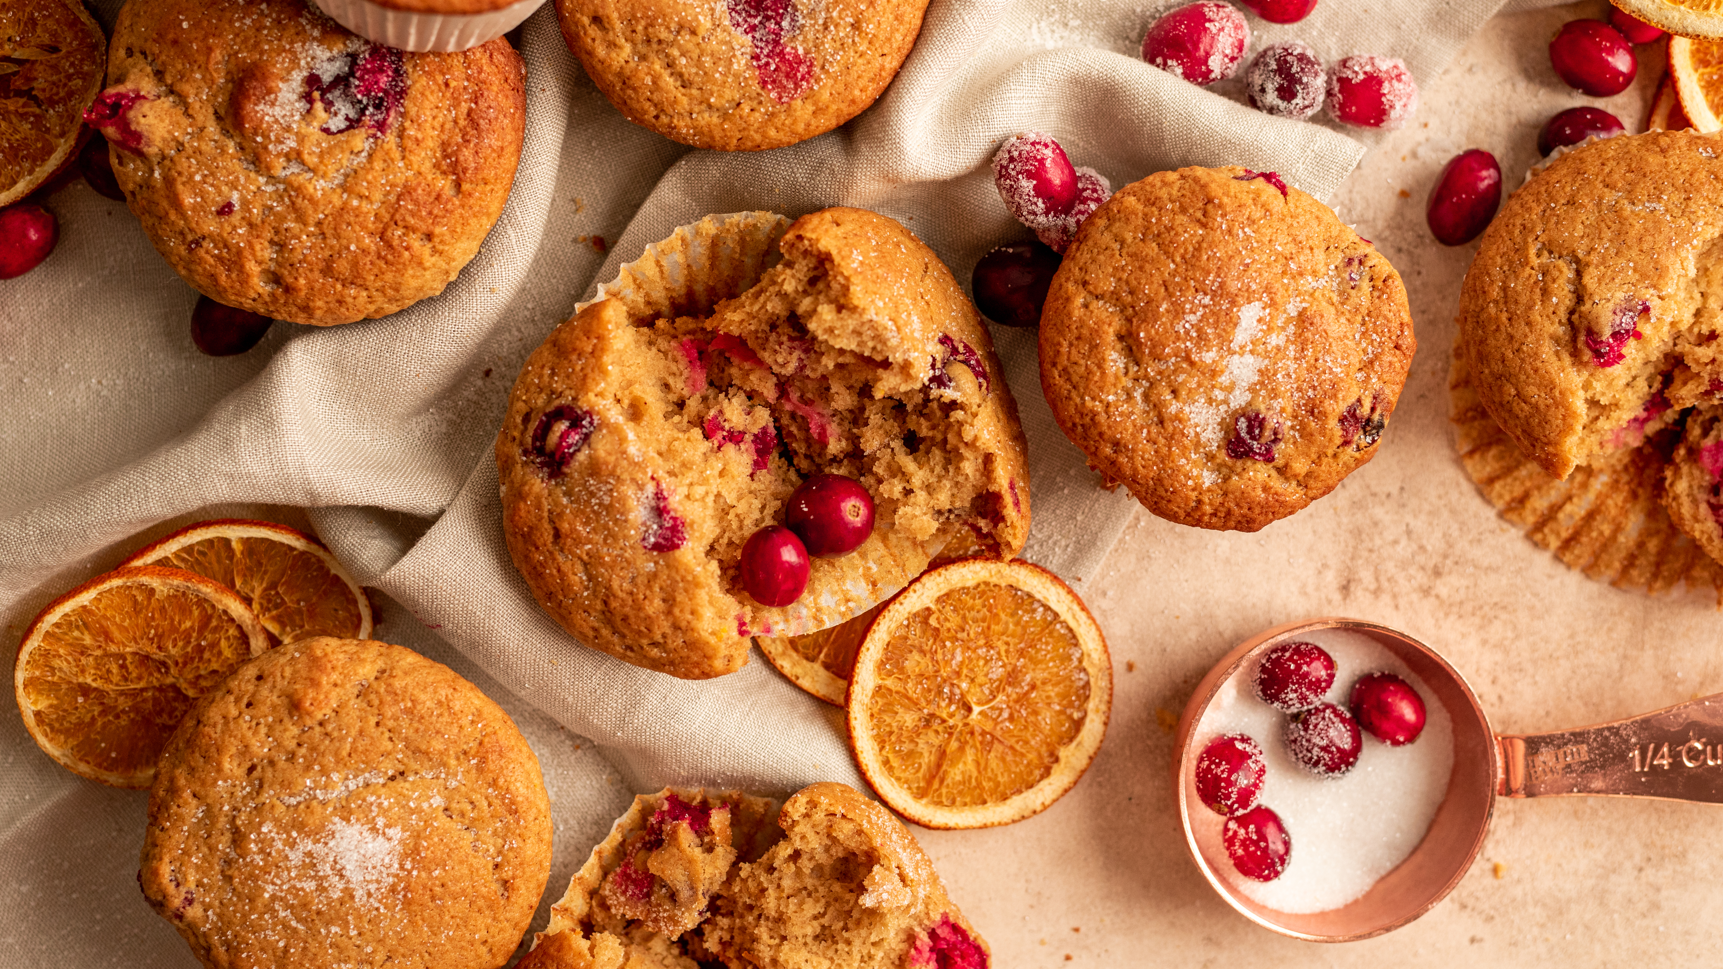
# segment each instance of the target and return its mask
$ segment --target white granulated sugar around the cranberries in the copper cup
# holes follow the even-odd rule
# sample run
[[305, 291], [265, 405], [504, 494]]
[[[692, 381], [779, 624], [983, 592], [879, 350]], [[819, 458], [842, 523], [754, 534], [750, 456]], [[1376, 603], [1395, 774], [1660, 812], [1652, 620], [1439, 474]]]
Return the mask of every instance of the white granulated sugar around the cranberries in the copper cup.
[[1291, 717], [1256, 698], [1254, 666], [1246, 666], [1215, 695], [1197, 726], [1196, 750], [1227, 733], [1249, 735], [1263, 747], [1268, 772], [1258, 803], [1285, 822], [1292, 857], [1275, 881], [1244, 878], [1220, 847], [1223, 819], [1192, 793], [1197, 840], [1210, 859], [1220, 859], [1215, 867], [1228, 885], [1289, 914], [1339, 909], [1406, 860], [1430, 829], [1454, 766], [1454, 728], [1447, 710], [1394, 653], [1363, 635], [1339, 629], [1301, 640], [1328, 650], [1339, 667], [1323, 697], [1328, 703], [1346, 707], [1359, 676], [1387, 671], [1418, 691], [1428, 719], [1418, 740], [1406, 747], [1389, 747], [1366, 733], [1358, 766], [1340, 778], [1323, 779], [1287, 753], [1284, 731]]

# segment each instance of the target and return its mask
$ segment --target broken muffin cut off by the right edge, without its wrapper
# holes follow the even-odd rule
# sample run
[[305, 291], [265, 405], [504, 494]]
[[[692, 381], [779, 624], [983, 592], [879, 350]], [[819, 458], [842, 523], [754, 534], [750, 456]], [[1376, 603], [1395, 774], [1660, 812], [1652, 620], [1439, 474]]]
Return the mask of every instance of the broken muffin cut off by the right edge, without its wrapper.
[[1723, 388], [1720, 150], [1692, 131], [1585, 145], [1485, 229], [1456, 352], [1549, 474], [1637, 447]]

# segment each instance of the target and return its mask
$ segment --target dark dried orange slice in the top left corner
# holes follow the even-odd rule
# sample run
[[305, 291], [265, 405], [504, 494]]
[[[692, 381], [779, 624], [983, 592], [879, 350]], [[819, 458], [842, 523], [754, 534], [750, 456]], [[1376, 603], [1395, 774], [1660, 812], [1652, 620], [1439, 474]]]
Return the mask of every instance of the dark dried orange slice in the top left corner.
[[107, 40], [79, 0], [0, 3], [0, 205], [72, 157], [105, 66]]

